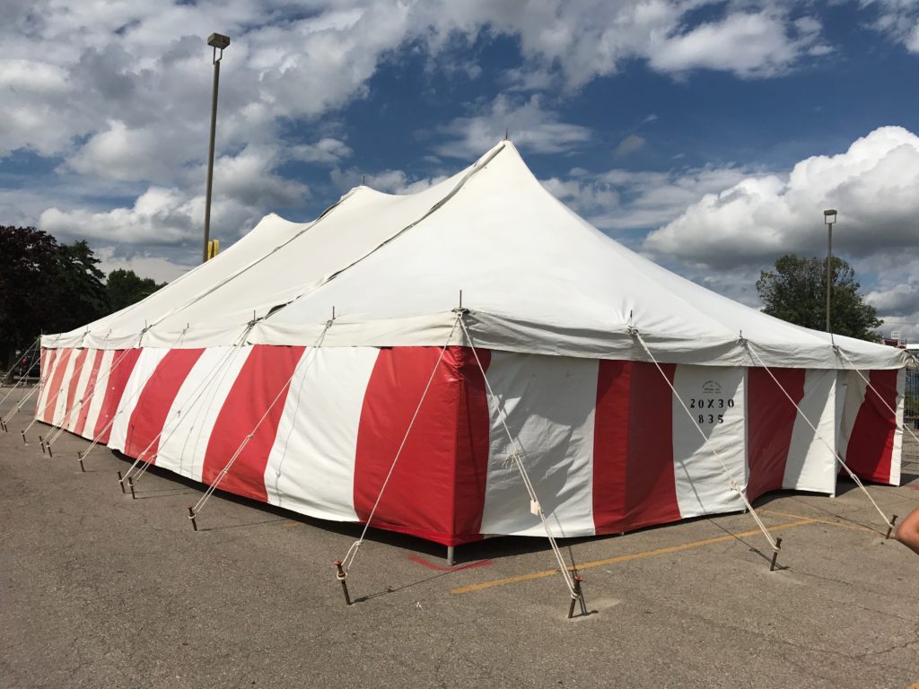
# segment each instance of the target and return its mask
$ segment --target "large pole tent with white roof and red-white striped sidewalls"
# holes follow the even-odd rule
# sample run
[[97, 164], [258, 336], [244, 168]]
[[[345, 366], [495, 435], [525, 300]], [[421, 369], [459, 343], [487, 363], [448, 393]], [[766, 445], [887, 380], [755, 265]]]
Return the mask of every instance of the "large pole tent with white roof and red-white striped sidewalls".
[[583, 537], [832, 495], [840, 461], [900, 480], [907, 355], [655, 265], [553, 198], [511, 141], [416, 194], [358, 186], [309, 223], [269, 215], [41, 344], [45, 423], [448, 546], [543, 535], [540, 509]]

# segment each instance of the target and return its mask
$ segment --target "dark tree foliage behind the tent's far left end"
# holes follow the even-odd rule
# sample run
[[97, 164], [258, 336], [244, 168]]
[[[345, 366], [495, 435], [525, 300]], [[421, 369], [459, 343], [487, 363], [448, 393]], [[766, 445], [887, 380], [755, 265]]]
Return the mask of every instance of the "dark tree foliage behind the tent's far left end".
[[65, 333], [162, 287], [130, 270], [107, 285], [89, 244], [61, 244], [34, 227], [0, 225], [0, 364], [40, 333]]

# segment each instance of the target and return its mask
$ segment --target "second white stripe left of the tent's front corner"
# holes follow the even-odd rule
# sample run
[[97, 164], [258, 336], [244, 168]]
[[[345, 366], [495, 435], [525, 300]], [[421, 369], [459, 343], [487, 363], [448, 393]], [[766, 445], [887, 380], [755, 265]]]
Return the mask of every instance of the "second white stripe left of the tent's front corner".
[[210, 433], [251, 351], [251, 346], [209, 347], [199, 357], [169, 408], [156, 466], [201, 480]]

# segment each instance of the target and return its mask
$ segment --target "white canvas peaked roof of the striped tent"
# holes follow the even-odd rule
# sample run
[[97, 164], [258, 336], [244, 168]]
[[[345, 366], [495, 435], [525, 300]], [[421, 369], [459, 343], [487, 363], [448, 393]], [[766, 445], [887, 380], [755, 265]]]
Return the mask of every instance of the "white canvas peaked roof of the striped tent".
[[[335, 308], [323, 347], [440, 346], [460, 290], [475, 344], [494, 350], [645, 360], [632, 326], [663, 362], [754, 366], [743, 333], [767, 366], [842, 367], [825, 333], [720, 297], [597, 231], [510, 141], [419, 194], [357, 187], [312, 223], [268, 216], [217, 259], [59, 343], [218, 346], [255, 321], [253, 344], [309, 346]], [[452, 344], [469, 343], [458, 331]], [[861, 368], [907, 356], [835, 344]]]

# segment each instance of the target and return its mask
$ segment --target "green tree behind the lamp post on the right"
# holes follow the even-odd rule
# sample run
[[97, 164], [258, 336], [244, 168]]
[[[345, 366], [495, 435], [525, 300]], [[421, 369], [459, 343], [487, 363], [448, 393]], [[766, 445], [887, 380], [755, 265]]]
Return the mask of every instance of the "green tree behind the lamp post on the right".
[[[856, 271], [842, 258], [833, 257], [833, 332], [861, 340], [876, 341], [875, 330], [883, 321], [875, 308], [859, 292]], [[756, 291], [765, 311], [783, 321], [813, 330], [826, 329], [826, 259], [804, 258], [793, 254], [776, 261], [774, 271], [763, 271]]]

